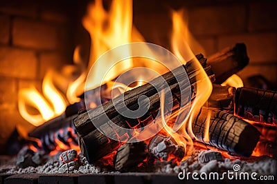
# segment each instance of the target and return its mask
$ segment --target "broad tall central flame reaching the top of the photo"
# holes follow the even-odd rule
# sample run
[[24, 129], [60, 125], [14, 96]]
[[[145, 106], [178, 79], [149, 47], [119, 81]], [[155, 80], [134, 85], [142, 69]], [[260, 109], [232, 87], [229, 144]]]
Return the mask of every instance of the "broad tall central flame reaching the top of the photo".
[[[89, 81], [87, 88], [95, 88], [100, 85], [100, 81], [107, 83], [116, 78], [118, 74], [132, 68], [132, 59], [127, 59], [114, 65], [105, 79], [100, 79], [100, 76], [104, 76], [106, 73], [106, 70], [101, 70], [101, 68], [105, 68], [113, 59], [107, 59], [105, 63], [95, 63], [98, 57], [107, 50], [131, 42], [132, 1], [112, 1], [110, 11], [107, 12], [102, 6], [102, 1], [96, 0], [95, 3], [89, 5], [88, 14], [82, 22], [91, 36], [91, 54], [88, 69], [95, 64], [92, 68], [93, 71], [91, 71], [95, 75], [87, 79]], [[127, 50], [126, 52], [131, 51]], [[114, 57], [116, 56], [118, 56], [118, 53], [114, 53]]]

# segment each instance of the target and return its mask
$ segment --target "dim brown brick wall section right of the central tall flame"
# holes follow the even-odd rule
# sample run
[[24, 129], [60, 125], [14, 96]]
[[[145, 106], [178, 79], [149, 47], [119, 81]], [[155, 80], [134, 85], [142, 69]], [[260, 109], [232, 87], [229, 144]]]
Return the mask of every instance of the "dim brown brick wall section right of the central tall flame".
[[134, 1], [134, 23], [148, 41], [170, 48], [169, 9], [183, 7], [189, 30], [206, 50], [206, 57], [244, 42], [250, 59], [238, 73], [244, 84], [249, 85], [249, 76], [262, 75], [271, 89], [277, 89], [276, 1], [142, 1]]

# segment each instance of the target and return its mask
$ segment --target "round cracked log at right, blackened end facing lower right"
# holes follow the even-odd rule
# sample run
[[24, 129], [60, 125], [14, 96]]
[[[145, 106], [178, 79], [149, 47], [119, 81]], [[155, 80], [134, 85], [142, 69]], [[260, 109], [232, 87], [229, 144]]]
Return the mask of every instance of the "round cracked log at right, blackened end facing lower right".
[[[211, 118], [207, 119], [209, 113]], [[206, 123], [209, 123], [208, 140]], [[208, 108], [202, 108], [195, 117], [193, 133], [202, 143], [242, 156], [250, 156], [260, 138], [260, 132], [253, 125], [227, 112]]]

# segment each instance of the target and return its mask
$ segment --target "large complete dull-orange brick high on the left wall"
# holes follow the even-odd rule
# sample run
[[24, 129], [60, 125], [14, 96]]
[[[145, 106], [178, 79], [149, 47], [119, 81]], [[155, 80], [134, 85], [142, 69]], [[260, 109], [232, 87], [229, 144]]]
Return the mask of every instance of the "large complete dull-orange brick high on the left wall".
[[57, 25], [17, 18], [13, 22], [12, 44], [38, 50], [64, 50], [64, 36]]

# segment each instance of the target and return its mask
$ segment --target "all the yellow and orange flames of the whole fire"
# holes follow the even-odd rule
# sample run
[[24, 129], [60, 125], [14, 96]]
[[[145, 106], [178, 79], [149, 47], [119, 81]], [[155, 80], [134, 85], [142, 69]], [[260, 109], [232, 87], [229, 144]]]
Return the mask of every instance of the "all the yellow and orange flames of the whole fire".
[[[123, 45], [125, 43], [131, 43], [133, 41], [144, 41], [143, 37], [138, 30], [132, 25], [132, 1], [111, 1], [111, 7], [109, 11], [105, 10], [102, 6], [101, 0], [96, 0], [91, 3], [88, 7], [88, 13], [82, 20], [84, 28], [87, 29], [91, 36], [91, 50], [89, 56], [89, 64], [84, 65], [79, 52], [80, 48], [76, 48], [73, 54], [74, 65], [66, 65], [62, 69], [61, 74], [57, 74], [53, 70], [48, 71], [44, 77], [42, 83], [42, 94], [33, 88], [22, 89], [19, 92], [19, 112], [21, 116], [27, 121], [35, 126], [42, 125], [45, 121], [53, 119], [55, 116], [62, 114], [66, 108], [66, 105], [80, 101], [78, 94], [84, 92], [84, 90], [90, 90], [99, 87], [102, 83], [107, 85], [107, 91], [118, 89], [120, 93], [126, 92], [127, 90], [132, 90], [140, 85], [143, 85], [149, 78], [142, 74], [139, 76], [139, 80], [132, 85], [125, 85], [113, 81], [116, 77], [123, 72], [131, 68], [135, 68], [138, 65], [146, 66], [148, 68], [154, 68], [163, 73], [166, 70], [163, 66], [152, 65], [149, 62], [143, 60], [125, 59], [124, 61], [114, 65], [114, 58], [118, 58], [120, 53], [113, 52], [111, 59], [99, 63], [96, 62], [97, 59], [118, 45]], [[186, 64], [187, 61], [193, 59], [193, 65], [197, 69], [196, 75], [196, 95], [190, 106], [190, 112], [186, 119], [177, 119], [181, 121], [181, 126], [178, 131], [175, 131], [170, 125], [166, 123], [164, 114], [164, 103], [165, 94], [161, 92], [161, 122], [163, 123], [163, 132], [172, 136], [175, 141], [184, 147], [186, 154], [190, 155], [191, 148], [194, 145], [193, 139], [196, 139], [192, 123], [195, 116], [199, 113], [202, 106], [206, 105], [211, 92], [213, 90], [212, 83], [208, 78], [206, 72], [202, 68], [202, 65], [195, 58], [195, 54], [202, 53], [205, 54], [204, 49], [199, 43], [193, 38], [192, 34], [188, 30], [188, 22], [184, 20], [184, 12], [172, 12], [172, 52], [177, 56], [182, 64]], [[127, 50], [126, 52], [132, 52], [132, 50]], [[150, 52], [151, 50], [143, 50], [143, 52]], [[92, 68], [92, 71], [89, 70]], [[105, 68], [107, 66], [113, 66], [109, 68], [107, 72]], [[73, 71], [78, 71], [79, 76], [73, 77]], [[87, 76], [88, 73], [93, 75]], [[69, 76], [69, 77], [68, 77]], [[100, 79], [100, 76], [105, 76], [105, 79]], [[57, 79], [58, 78], [58, 79]], [[65, 81], [66, 89], [61, 90], [58, 86], [62, 82], [55, 82], [56, 80]], [[87, 79], [86, 89], [84, 89], [84, 82]], [[148, 79], [148, 80], [146, 80]], [[226, 80], [222, 85], [231, 85], [235, 87], [243, 86], [242, 80], [239, 76], [233, 75], [228, 80]], [[81, 90], [80, 90], [81, 89]], [[80, 92], [81, 91], [81, 92]], [[111, 99], [116, 96], [111, 96]], [[91, 103], [90, 108], [96, 108], [96, 103]], [[31, 106], [37, 110], [37, 114], [32, 114], [28, 110], [28, 106]], [[182, 109], [179, 111], [182, 113]], [[207, 123], [205, 124], [204, 140], [209, 139], [209, 119], [211, 118], [211, 112], [207, 116]], [[137, 132], [139, 134], [139, 132]], [[129, 138], [129, 136], [124, 134]], [[193, 139], [192, 139], [193, 138]], [[68, 139], [66, 143], [60, 141], [55, 137], [56, 147], [50, 154], [56, 154], [62, 150], [68, 150], [74, 148], [80, 150], [78, 145], [73, 145], [70, 142], [72, 139]], [[32, 150], [37, 149], [31, 146]], [[115, 153], [103, 158], [104, 160], [110, 159]], [[173, 158], [174, 159], [174, 158]], [[108, 161], [111, 164], [111, 161]]]

